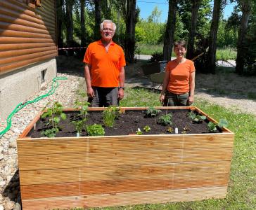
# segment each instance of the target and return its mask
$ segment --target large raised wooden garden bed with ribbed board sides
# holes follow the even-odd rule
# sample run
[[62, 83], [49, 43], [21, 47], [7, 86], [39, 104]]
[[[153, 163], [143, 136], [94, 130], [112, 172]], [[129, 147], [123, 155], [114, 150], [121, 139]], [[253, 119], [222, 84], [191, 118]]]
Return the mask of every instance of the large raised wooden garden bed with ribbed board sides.
[[[178, 109], [193, 109], [207, 116], [196, 107]], [[108, 207], [226, 196], [234, 138], [226, 128], [205, 134], [31, 138], [28, 134], [39, 118], [17, 141], [23, 209]], [[215, 122], [208, 116], [207, 120]]]

